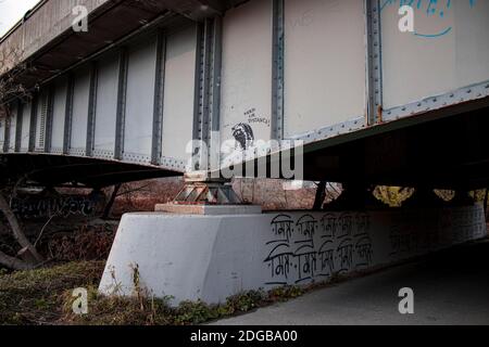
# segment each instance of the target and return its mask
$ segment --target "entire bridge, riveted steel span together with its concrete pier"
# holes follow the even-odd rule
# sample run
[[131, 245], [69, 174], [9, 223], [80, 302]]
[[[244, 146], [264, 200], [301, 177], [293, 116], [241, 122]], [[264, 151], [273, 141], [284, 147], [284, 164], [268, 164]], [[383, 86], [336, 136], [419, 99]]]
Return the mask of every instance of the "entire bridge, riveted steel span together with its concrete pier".
[[[289, 157], [360, 190], [485, 188], [487, 33], [482, 0], [43, 0], [0, 41], [22, 86], [2, 100], [0, 179], [297, 179], [273, 170]], [[137, 265], [156, 296], [217, 303], [487, 235], [480, 206], [198, 214], [124, 216], [100, 291], [115, 275], [131, 293]]]

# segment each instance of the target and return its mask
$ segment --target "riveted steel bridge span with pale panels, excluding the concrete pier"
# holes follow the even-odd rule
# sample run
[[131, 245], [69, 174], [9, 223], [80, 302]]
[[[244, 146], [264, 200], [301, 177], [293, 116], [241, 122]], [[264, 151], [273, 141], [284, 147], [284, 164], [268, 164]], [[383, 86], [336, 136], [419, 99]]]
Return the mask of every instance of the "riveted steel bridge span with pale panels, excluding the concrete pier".
[[238, 128], [301, 140], [308, 180], [486, 187], [489, 4], [417, 1], [413, 33], [398, 28], [402, 4], [40, 1], [0, 43], [32, 97], [4, 100], [2, 179], [181, 175], [192, 140], [221, 153]]

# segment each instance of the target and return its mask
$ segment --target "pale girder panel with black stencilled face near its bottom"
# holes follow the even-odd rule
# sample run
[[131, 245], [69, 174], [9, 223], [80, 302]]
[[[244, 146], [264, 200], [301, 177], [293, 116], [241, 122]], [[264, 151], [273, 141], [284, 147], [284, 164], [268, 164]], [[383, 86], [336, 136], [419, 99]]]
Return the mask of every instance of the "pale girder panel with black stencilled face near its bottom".
[[255, 140], [271, 138], [272, 1], [253, 0], [226, 13], [223, 22], [221, 139], [249, 125]]

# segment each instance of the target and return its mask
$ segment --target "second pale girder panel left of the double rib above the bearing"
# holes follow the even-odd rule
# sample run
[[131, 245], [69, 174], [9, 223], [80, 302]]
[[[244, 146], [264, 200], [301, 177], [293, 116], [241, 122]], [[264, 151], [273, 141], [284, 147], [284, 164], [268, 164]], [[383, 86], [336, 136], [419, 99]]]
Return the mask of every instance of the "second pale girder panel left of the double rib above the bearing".
[[155, 40], [133, 48], [128, 59], [124, 158], [149, 162], [153, 132]]

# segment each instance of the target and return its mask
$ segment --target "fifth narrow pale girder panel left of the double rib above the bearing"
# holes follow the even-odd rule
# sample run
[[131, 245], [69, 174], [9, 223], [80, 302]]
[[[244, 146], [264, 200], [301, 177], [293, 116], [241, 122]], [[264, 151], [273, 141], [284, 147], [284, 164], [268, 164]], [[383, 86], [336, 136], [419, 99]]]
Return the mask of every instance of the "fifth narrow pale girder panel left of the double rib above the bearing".
[[63, 151], [66, 93], [67, 81], [65, 78], [62, 78], [57, 81], [52, 105], [51, 152], [53, 153], [62, 153]]

